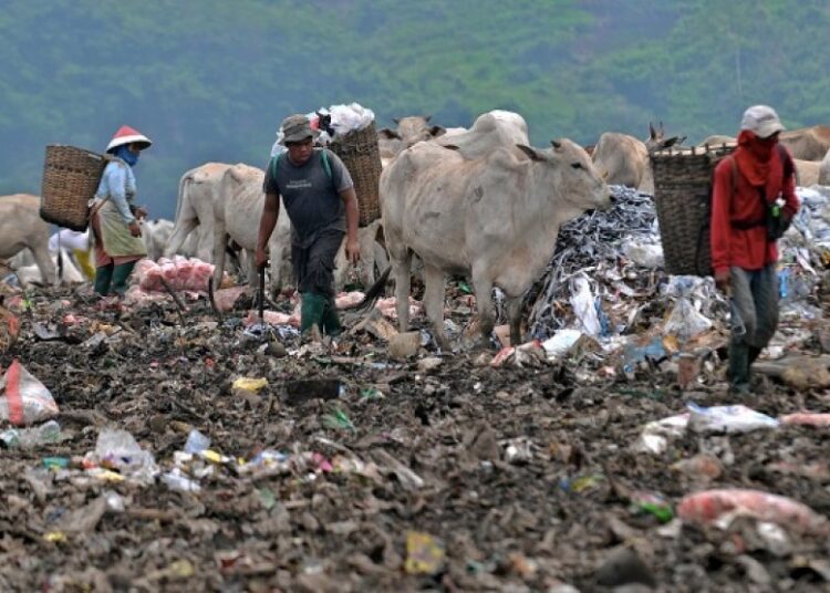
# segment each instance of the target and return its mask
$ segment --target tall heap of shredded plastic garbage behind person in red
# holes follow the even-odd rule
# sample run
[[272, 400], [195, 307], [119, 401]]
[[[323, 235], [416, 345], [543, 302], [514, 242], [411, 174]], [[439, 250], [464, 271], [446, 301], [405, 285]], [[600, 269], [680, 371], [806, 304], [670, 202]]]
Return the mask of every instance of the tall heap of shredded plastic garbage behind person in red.
[[[557, 250], [531, 291], [529, 329], [543, 341], [588, 335], [606, 352], [644, 335], [671, 335], [686, 344], [703, 334], [728, 333], [729, 308], [710, 278], [670, 277], [654, 204], [625, 187], [611, 188], [614, 206], [577, 218], [560, 230]], [[782, 315], [818, 320], [818, 294], [830, 264], [830, 188], [798, 188], [802, 208], [780, 246]], [[562, 333], [563, 330], [566, 333]], [[803, 340], [806, 335], [800, 334]], [[777, 336], [774, 357], [792, 346]]]

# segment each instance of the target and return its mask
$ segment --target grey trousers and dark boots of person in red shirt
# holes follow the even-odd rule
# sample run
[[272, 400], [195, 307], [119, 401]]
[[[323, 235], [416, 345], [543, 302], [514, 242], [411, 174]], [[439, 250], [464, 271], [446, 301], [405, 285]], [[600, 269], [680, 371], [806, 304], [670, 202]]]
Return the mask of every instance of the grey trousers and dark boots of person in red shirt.
[[774, 263], [760, 270], [733, 267], [729, 384], [749, 391], [749, 368], [778, 327], [778, 273]]

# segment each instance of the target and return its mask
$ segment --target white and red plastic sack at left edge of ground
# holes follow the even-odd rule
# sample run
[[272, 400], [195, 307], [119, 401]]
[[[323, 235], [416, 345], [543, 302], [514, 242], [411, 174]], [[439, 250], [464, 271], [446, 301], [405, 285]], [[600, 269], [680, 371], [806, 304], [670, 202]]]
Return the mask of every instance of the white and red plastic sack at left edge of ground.
[[0, 418], [28, 426], [58, 414], [52, 394], [17, 358], [0, 379]]

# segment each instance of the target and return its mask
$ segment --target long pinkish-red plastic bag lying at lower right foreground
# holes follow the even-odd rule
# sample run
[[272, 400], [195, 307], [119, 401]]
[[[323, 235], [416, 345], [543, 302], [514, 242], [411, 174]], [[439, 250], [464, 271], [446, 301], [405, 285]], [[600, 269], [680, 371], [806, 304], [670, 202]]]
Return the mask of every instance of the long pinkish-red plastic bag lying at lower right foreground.
[[827, 533], [828, 521], [808, 506], [760, 490], [722, 489], [688, 495], [677, 506], [687, 523], [713, 524], [736, 516], [778, 523], [805, 533]]

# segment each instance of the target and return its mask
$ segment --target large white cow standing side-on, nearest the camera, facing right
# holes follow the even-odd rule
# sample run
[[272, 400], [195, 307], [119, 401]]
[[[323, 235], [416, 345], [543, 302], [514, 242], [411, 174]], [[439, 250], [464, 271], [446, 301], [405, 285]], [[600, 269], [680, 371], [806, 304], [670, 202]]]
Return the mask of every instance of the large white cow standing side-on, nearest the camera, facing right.
[[485, 343], [494, 325], [491, 289], [508, 298], [510, 337], [521, 341], [521, 299], [550, 262], [559, 227], [610, 205], [608, 186], [583, 148], [519, 145], [467, 160], [434, 143], [401, 153], [381, 174], [381, 209], [395, 275], [401, 330], [408, 326], [409, 266], [424, 262], [424, 303], [442, 347], [446, 273], [469, 274]]

